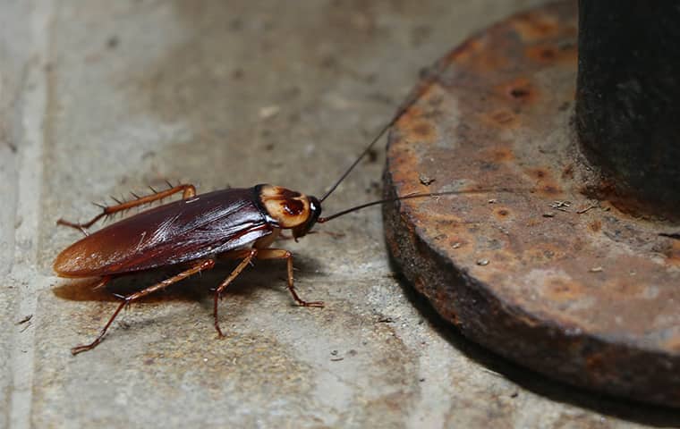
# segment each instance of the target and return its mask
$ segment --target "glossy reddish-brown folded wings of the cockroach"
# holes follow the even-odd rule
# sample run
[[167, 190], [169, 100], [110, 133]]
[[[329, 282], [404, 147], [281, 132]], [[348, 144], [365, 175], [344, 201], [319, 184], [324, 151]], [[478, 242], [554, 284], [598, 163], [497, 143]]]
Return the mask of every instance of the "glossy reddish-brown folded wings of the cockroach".
[[94, 277], [172, 265], [240, 248], [271, 234], [254, 189], [224, 189], [135, 214], [65, 248], [62, 277]]

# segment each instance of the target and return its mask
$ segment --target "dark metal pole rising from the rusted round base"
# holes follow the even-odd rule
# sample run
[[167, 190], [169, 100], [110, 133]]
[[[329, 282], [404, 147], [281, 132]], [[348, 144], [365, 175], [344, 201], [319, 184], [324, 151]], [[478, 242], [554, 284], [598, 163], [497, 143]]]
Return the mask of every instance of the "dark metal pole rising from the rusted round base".
[[576, 127], [600, 189], [680, 215], [680, 2], [580, 0]]

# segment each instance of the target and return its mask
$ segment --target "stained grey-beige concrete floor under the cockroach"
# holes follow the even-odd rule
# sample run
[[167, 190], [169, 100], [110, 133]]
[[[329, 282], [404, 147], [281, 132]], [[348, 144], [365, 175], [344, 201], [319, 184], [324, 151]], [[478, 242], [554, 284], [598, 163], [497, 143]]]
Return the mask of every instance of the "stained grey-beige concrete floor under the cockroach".
[[[523, 371], [441, 324], [390, 265], [378, 209], [281, 243], [302, 297], [326, 308], [294, 307], [284, 266], [261, 262], [223, 300], [218, 341], [209, 288], [225, 265], [133, 306], [98, 349], [69, 352], [115, 299], [52, 273], [80, 238], [57, 218], [87, 219], [90, 201], [166, 179], [320, 194], [421, 67], [540, 3], [0, 3], [0, 427], [678, 425], [673, 411]], [[380, 152], [327, 213], [378, 197]]]

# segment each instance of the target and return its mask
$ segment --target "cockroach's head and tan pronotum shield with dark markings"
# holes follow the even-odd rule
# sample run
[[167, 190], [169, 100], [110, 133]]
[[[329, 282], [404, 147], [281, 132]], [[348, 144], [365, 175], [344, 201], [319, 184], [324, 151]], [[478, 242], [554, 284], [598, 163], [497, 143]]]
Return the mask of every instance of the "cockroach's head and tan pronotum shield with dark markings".
[[293, 230], [298, 239], [310, 231], [321, 214], [321, 203], [316, 197], [280, 186], [258, 185], [259, 202], [279, 228]]

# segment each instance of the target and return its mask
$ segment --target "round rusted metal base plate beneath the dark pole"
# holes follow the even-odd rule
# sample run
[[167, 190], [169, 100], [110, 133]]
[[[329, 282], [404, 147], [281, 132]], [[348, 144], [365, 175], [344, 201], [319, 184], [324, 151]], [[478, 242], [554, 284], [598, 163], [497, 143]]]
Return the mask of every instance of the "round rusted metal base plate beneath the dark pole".
[[680, 407], [680, 226], [588, 197], [576, 37], [568, 1], [446, 56], [391, 133], [386, 193], [464, 193], [386, 206], [387, 242], [473, 341], [567, 383]]

